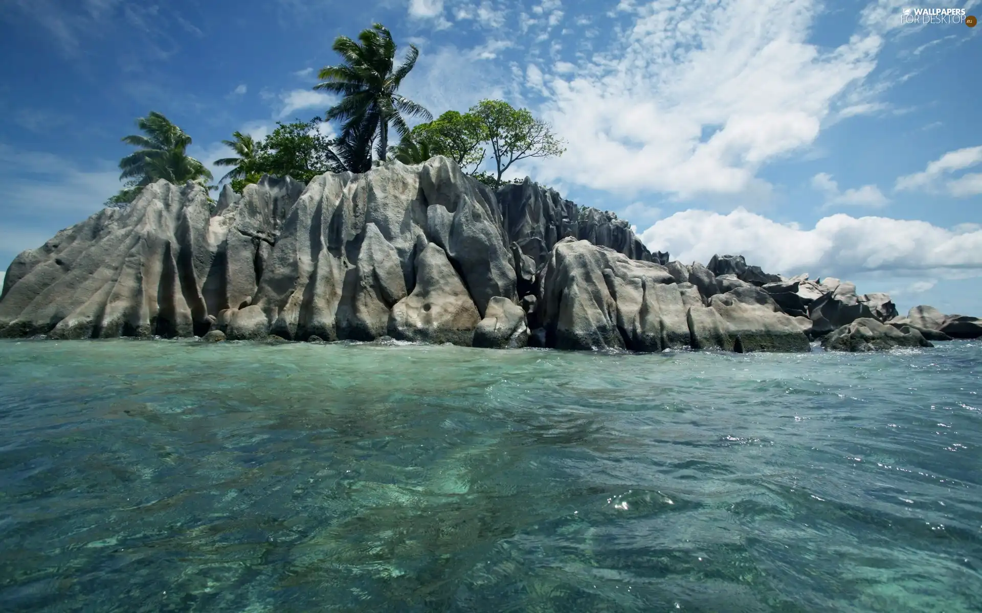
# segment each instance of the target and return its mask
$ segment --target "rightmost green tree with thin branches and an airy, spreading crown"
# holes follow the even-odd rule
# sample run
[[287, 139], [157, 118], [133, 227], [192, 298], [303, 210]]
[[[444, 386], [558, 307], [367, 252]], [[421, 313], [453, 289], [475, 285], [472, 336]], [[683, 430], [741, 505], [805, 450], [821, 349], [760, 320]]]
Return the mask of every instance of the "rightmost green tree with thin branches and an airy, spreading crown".
[[495, 186], [512, 164], [527, 158], [563, 155], [566, 149], [546, 122], [503, 100], [481, 100], [467, 112], [480, 121], [495, 162]]

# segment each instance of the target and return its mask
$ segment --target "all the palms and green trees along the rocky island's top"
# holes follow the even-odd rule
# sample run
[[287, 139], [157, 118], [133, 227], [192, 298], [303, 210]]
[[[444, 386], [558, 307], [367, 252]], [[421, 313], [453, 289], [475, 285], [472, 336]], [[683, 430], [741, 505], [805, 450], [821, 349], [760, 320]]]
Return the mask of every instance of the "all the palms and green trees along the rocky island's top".
[[[516, 162], [564, 152], [549, 124], [503, 100], [481, 100], [465, 113], [447, 111], [432, 119], [429, 111], [399, 93], [419, 50], [409, 45], [405, 60], [397, 66], [397, 46], [385, 26], [364, 29], [357, 40], [338, 36], [333, 49], [342, 62], [321, 69], [321, 82], [314, 89], [341, 98], [324, 119], [278, 122], [261, 140], [236, 131], [231, 140], [222, 141], [234, 155], [214, 163], [231, 167], [222, 180], [230, 181], [233, 189], [242, 192], [263, 175], [309, 182], [329, 172], [367, 172], [373, 160], [421, 164], [437, 155], [454, 160], [464, 173], [496, 188]], [[425, 121], [409, 128], [410, 119]], [[332, 122], [340, 134], [328, 128]], [[107, 205], [126, 205], [157, 179], [194, 180], [213, 188], [207, 184], [211, 174], [204, 165], [185, 154], [191, 136], [157, 112], [140, 118], [136, 125], [146, 135], [123, 139], [139, 150], [120, 162], [121, 179], [130, 180]], [[400, 137], [396, 145], [389, 144], [390, 128]]]

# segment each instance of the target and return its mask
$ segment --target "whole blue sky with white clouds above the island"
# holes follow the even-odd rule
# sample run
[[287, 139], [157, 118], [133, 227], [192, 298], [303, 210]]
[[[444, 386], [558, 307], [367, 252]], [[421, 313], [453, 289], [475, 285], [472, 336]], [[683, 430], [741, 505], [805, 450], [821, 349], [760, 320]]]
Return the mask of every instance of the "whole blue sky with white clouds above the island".
[[904, 9], [982, 0], [0, 0], [0, 268], [120, 188], [137, 117], [210, 165], [235, 130], [323, 115], [334, 38], [379, 22], [420, 51], [401, 93], [529, 109], [566, 152], [506, 177], [651, 249], [982, 316], [982, 26]]

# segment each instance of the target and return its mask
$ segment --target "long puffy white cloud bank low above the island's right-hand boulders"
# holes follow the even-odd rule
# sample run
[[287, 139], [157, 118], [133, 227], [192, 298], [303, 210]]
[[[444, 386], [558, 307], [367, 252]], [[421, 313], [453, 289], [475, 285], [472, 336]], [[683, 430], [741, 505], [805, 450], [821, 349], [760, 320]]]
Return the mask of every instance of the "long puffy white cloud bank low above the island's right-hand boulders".
[[693, 209], [658, 221], [641, 239], [685, 263], [705, 263], [714, 253], [741, 254], [765, 271], [785, 275], [982, 276], [982, 228], [973, 225], [948, 230], [927, 222], [838, 214], [805, 230], [742, 208], [727, 215]]

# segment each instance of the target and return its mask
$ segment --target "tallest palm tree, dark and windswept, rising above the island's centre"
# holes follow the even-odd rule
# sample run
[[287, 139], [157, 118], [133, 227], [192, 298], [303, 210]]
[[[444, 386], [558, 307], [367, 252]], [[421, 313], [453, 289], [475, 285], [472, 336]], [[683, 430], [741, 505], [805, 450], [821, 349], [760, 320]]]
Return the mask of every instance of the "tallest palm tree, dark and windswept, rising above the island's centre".
[[429, 111], [398, 93], [403, 79], [415, 66], [419, 49], [409, 45], [406, 60], [395, 68], [396, 43], [388, 28], [375, 24], [371, 29], [363, 29], [358, 41], [348, 36], [338, 36], [332, 47], [341, 56], [343, 63], [327, 66], [317, 77], [323, 82], [314, 89], [341, 94], [341, 101], [328, 110], [326, 121], [342, 122], [345, 135], [359, 134], [358, 145], [368, 149], [371, 156], [371, 142], [376, 145], [376, 155], [384, 160], [389, 148], [389, 125], [396, 128], [400, 136], [409, 133], [406, 117], [432, 119]]

